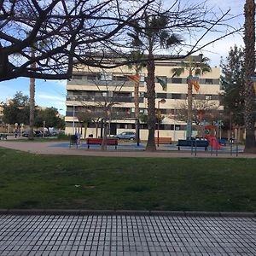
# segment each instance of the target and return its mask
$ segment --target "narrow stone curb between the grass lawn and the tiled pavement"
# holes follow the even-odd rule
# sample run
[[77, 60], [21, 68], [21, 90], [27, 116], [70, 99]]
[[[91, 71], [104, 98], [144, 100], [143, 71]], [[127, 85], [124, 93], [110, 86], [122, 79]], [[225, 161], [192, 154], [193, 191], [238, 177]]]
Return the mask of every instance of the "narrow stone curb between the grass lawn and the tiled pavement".
[[177, 217], [221, 217], [256, 218], [256, 212], [183, 212], [183, 211], [123, 211], [123, 210], [61, 210], [61, 209], [0, 209], [0, 215], [124, 215], [124, 216], [177, 216]]

